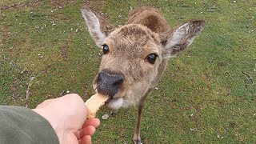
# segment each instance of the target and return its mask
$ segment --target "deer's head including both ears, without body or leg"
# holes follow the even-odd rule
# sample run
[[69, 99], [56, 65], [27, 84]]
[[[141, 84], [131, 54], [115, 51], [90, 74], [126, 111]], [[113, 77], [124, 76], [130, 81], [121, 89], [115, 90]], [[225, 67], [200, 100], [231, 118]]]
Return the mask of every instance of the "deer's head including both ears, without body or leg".
[[160, 34], [146, 25], [127, 24], [105, 34], [93, 12], [82, 10], [82, 16], [94, 42], [103, 51], [94, 89], [110, 96], [106, 106], [112, 110], [137, 104], [162, 74], [166, 58], [176, 57], [204, 26], [203, 21], [186, 22], [165, 36], [168, 39], [163, 42]]

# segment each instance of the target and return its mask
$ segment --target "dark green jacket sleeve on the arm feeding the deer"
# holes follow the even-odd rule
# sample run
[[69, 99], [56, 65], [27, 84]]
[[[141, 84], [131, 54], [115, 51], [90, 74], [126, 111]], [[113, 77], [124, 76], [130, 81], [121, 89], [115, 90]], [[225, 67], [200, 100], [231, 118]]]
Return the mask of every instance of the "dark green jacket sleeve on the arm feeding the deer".
[[58, 144], [58, 136], [41, 115], [25, 107], [0, 106], [1, 144]]

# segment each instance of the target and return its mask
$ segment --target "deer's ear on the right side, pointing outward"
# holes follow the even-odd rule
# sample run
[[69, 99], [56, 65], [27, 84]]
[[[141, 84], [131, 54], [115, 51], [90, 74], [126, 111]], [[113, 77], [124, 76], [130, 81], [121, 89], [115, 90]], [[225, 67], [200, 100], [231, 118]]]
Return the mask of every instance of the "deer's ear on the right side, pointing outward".
[[162, 58], [174, 58], [193, 42], [194, 38], [202, 31], [205, 21], [195, 20], [178, 26], [166, 42], [162, 51]]

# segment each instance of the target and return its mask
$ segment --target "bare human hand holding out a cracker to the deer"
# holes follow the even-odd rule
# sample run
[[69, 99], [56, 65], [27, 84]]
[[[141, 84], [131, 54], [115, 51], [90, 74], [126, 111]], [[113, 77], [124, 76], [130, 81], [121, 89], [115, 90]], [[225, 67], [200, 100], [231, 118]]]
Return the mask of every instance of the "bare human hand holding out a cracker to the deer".
[[67, 94], [39, 104], [34, 111], [53, 126], [61, 144], [89, 144], [98, 118], [87, 119], [89, 110], [78, 94]]

